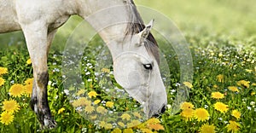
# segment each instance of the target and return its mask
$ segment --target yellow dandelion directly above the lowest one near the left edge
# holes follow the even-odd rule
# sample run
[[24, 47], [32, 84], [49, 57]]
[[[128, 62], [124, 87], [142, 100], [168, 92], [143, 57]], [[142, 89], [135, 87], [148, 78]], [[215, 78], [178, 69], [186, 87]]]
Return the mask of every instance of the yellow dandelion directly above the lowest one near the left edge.
[[20, 110], [20, 106], [15, 100], [3, 101], [3, 110], [9, 113], [15, 113]]

